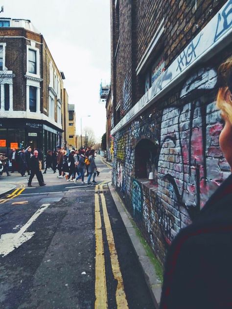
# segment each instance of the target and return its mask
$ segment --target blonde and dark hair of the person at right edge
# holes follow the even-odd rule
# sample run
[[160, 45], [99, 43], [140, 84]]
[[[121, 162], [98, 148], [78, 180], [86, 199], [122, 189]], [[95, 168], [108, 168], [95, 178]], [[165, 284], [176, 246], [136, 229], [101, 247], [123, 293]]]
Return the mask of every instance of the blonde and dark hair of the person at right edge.
[[232, 56], [229, 57], [225, 62], [223, 62], [218, 68], [218, 78], [221, 79], [221, 82], [224, 84], [219, 88], [217, 94], [217, 107], [221, 109], [225, 117], [232, 124], [232, 93], [229, 89], [229, 86], [232, 87], [232, 84], [228, 86], [228, 82], [232, 77]]

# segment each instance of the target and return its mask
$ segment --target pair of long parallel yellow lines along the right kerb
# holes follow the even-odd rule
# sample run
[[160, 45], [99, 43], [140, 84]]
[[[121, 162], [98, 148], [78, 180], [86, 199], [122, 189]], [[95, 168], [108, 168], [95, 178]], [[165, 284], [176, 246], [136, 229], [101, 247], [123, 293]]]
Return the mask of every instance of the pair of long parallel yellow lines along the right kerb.
[[103, 181], [95, 188], [95, 240], [96, 240], [96, 259], [95, 259], [95, 309], [107, 309], [107, 286], [106, 286], [106, 274], [105, 274], [105, 257], [103, 247], [102, 236], [102, 222], [100, 213], [99, 197], [101, 200], [103, 221], [105, 225], [107, 242], [110, 250], [110, 259], [112, 265], [112, 271], [115, 280], [117, 281], [116, 288], [116, 304], [118, 309], [128, 308], [126, 300], [126, 294], [124, 291], [124, 285], [122, 280], [122, 274], [117, 258], [117, 252], [115, 247], [114, 235], [111, 228], [110, 218], [106, 207], [106, 200], [103, 193], [98, 194], [98, 190], [103, 190], [103, 185], [109, 182]]

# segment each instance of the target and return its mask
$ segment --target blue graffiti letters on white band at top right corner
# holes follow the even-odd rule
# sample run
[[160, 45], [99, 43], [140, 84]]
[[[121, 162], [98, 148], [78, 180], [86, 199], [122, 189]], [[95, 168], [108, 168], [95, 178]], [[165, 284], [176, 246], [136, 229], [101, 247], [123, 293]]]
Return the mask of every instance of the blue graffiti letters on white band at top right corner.
[[216, 42], [230, 26], [232, 26], [232, 0], [228, 1], [221, 13], [218, 13], [214, 42]]

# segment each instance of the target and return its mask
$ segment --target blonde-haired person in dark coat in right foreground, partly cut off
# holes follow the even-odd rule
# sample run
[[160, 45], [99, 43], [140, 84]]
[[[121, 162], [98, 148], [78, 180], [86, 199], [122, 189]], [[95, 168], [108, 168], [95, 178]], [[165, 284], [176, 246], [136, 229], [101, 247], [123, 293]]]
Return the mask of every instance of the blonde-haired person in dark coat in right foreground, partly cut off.
[[[219, 136], [232, 170], [232, 57], [218, 70]], [[232, 174], [169, 247], [161, 309], [232, 308]]]

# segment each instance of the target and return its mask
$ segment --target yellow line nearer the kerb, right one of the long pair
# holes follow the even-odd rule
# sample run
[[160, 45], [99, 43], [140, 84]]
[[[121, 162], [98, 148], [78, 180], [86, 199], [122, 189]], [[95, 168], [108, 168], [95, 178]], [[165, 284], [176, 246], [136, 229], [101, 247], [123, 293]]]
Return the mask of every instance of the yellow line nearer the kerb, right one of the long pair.
[[[102, 184], [101, 184], [102, 188]], [[128, 308], [128, 303], [126, 300], [126, 294], [124, 291], [124, 285], [122, 280], [122, 274], [120, 271], [120, 266], [117, 258], [117, 252], [115, 248], [115, 240], [114, 235], [112, 232], [111, 224], [110, 224], [110, 218], [108, 215], [108, 211], [106, 208], [106, 201], [104, 194], [100, 194], [101, 197], [101, 203], [102, 203], [102, 209], [103, 209], [103, 217], [104, 217], [104, 223], [105, 223], [105, 229], [106, 229], [106, 236], [107, 241], [109, 244], [110, 249], [110, 257], [111, 257], [111, 264], [112, 264], [112, 270], [113, 275], [115, 277], [115, 280], [117, 281], [117, 288], [116, 288], [116, 303], [117, 303], [117, 309], [125, 309]]]

